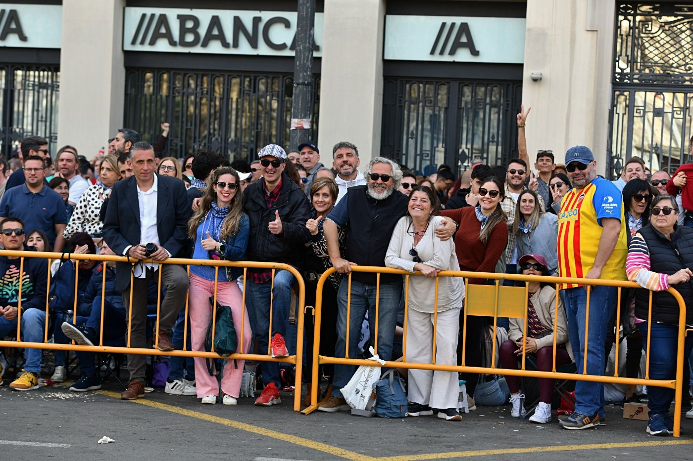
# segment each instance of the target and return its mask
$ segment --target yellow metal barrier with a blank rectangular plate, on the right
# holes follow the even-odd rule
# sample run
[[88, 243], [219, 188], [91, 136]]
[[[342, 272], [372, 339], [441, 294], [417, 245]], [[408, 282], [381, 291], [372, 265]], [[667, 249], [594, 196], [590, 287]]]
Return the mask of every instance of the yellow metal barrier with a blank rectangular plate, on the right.
[[[344, 357], [329, 357], [329, 356], [322, 356], [319, 354], [320, 350], [320, 322], [322, 318], [322, 289], [323, 286], [328, 280], [328, 276], [331, 273], [334, 273], [335, 269], [331, 268], [325, 271], [320, 279], [317, 282], [317, 293], [315, 295], [315, 310], [314, 310], [314, 321], [315, 321], [315, 332], [314, 332], [314, 341], [313, 341], [313, 377], [310, 380], [313, 384], [313, 391], [311, 392], [312, 399], [310, 402], [310, 406], [307, 408], [304, 408], [304, 410], [301, 411], [301, 414], [303, 415], [308, 415], [309, 413], [312, 413], [314, 410], [317, 409], [317, 388], [318, 388], [318, 366], [320, 364], [326, 364], [326, 363], [333, 363], [335, 365], [370, 365], [370, 366], [380, 366], [378, 365], [377, 362], [375, 361], [367, 361], [367, 360], [362, 360], [362, 359], [353, 359], [349, 358], [349, 325], [350, 325], [350, 319], [349, 319], [349, 313], [350, 313], [350, 307], [351, 307], [351, 273], [353, 272], [367, 272], [367, 273], [376, 273], [377, 274], [377, 280], [378, 284], [380, 282], [380, 274], [382, 273], [389, 273], [389, 274], [401, 274], [405, 275], [404, 277], [404, 296], [405, 296], [405, 320], [404, 320], [404, 333], [403, 333], [403, 360], [402, 361], [387, 361], [385, 363], [385, 367], [388, 368], [414, 368], [417, 370], [441, 370], [441, 371], [450, 371], [450, 372], [471, 372], [471, 373], [478, 373], [478, 374], [507, 374], [507, 375], [512, 375], [512, 376], [520, 376], [520, 377], [536, 377], [536, 378], [550, 378], [550, 379], [571, 379], [571, 380], [579, 380], [579, 381], [596, 381], [596, 382], [602, 382], [602, 383], [619, 383], [619, 384], [634, 384], [634, 385], [640, 385], [640, 386], [656, 386], [656, 387], [663, 387], [663, 388], [670, 388], [674, 389], [676, 394], [675, 395], [681, 395], [682, 388], [683, 388], [683, 365], [685, 362], [685, 359], [683, 357], [683, 343], [685, 340], [685, 333], [686, 333], [686, 327], [685, 327], [685, 318], [686, 318], [686, 307], [685, 307], [685, 302], [683, 301], [683, 298], [681, 298], [681, 295], [676, 291], [675, 289], [669, 288], [667, 291], [676, 298], [676, 301], [678, 302], [679, 306], [679, 314], [678, 314], [678, 354], [677, 354], [677, 359], [676, 359], [676, 378], [672, 380], [659, 380], [659, 379], [649, 379], [649, 345], [650, 345], [650, 334], [651, 334], [651, 329], [648, 329], [648, 337], [647, 337], [647, 366], [645, 370], [645, 376], [643, 379], [638, 379], [638, 378], [625, 378], [625, 377], [620, 377], [618, 376], [618, 347], [619, 347], [619, 333], [617, 332], [616, 334], [616, 350], [615, 350], [615, 372], [613, 376], [605, 376], [605, 375], [597, 375], [597, 374], [588, 374], [587, 373], [587, 343], [588, 341], [585, 341], [585, 360], [584, 360], [584, 368], [582, 372], [578, 370], [577, 373], [562, 373], [562, 372], [556, 372], [556, 330], [557, 330], [557, 323], [558, 323], [558, 316], [554, 316], [554, 327], [553, 327], [553, 333], [554, 333], [554, 343], [553, 343], [553, 370], [551, 372], [545, 372], [545, 371], [538, 371], [538, 370], [526, 370], [525, 369], [525, 356], [527, 354], [526, 352], [526, 343], [523, 345], [523, 352], [522, 352], [522, 365], [520, 370], [512, 370], [512, 369], [507, 369], [507, 368], [498, 368], [495, 366], [495, 338], [496, 338], [496, 330], [495, 326], [497, 325], [498, 322], [498, 317], [515, 317], [515, 318], [523, 318], [525, 320], [525, 332], [523, 337], [527, 337], [527, 293], [529, 292], [529, 282], [547, 282], [550, 284], [555, 284], [556, 285], [556, 293], [559, 292], [559, 287], [558, 285], [561, 283], [578, 283], [578, 284], [584, 284], [586, 286], [587, 290], [587, 306], [586, 306], [586, 331], [585, 331], [585, 337], [588, 338], [589, 334], [589, 302], [590, 302], [590, 291], [591, 287], [593, 286], [606, 286], [606, 287], [617, 287], [618, 289], [618, 296], [617, 296], [617, 319], [616, 319], [616, 326], [620, 325], [620, 298], [621, 298], [621, 290], [623, 288], [638, 288], [642, 289], [640, 285], [636, 284], [635, 282], [626, 282], [626, 281], [620, 281], [620, 280], [595, 280], [595, 279], [584, 279], [584, 278], [563, 278], [563, 277], [547, 277], [547, 276], [541, 276], [541, 275], [522, 275], [522, 274], [505, 274], [505, 273], [481, 273], [481, 272], [468, 272], [468, 271], [441, 271], [438, 274], [438, 277], [462, 277], [462, 278], [482, 278], [482, 279], [488, 279], [488, 280], [495, 280], [495, 285], [480, 285], [480, 284], [468, 284], [466, 283], [466, 290], [465, 290], [465, 300], [464, 300], [464, 305], [466, 308], [464, 309], [463, 312], [461, 312], [461, 315], [464, 315], [465, 319], [466, 316], [472, 315], [472, 316], [489, 316], [493, 317], [493, 351], [491, 353], [491, 367], [490, 368], [485, 368], [485, 367], [472, 367], [472, 366], [466, 366], [464, 363], [466, 361], [466, 356], [465, 356], [465, 347], [464, 343], [466, 340], [466, 321], [464, 322], [464, 328], [462, 329], [462, 360], [460, 361], [460, 358], [458, 357], [458, 362], [462, 363], [461, 365], [439, 365], [435, 363], [435, 342], [436, 342], [436, 335], [435, 335], [435, 329], [433, 333], [433, 353], [432, 357], [433, 363], [413, 363], [413, 362], [408, 362], [407, 361], [407, 352], [406, 352], [406, 342], [407, 342], [407, 310], [408, 310], [408, 302], [409, 302], [409, 278], [410, 277], [422, 277], [421, 273], [416, 273], [415, 275], [412, 275], [411, 273], [407, 271], [402, 271], [399, 269], [392, 269], [388, 267], [374, 267], [374, 266], [351, 266], [351, 273], [347, 276], [346, 280], [343, 282], [348, 283], [349, 287], [349, 295], [347, 298], [347, 331], [346, 331], [346, 337], [347, 337], [347, 347], [346, 347], [346, 354]], [[502, 287], [500, 286], [500, 280], [515, 280], [518, 282], [525, 282], [525, 287]], [[434, 310], [434, 316], [435, 319], [437, 320], [437, 298], [438, 298], [438, 284], [436, 282], [436, 292], [434, 293], [435, 296], [432, 296], [434, 302], [435, 302], [435, 310]], [[376, 289], [377, 293], [377, 289]], [[556, 295], [556, 308], [559, 306], [559, 296]], [[557, 310], [556, 310], [557, 311]], [[378, 331], [378, 295], [376, 294], [376, 318], [372, 319], [375, 321], [375, 332], [376, 332], [376, 338], [374, 338], [374, 350], [376, 350], [377, 353], [377, 331]], [[652, 315], [652, 293], [650, 292], [649, 296], [649, 317], [648, 321], [651, 320], [651, 315]], [[434, 328], [435, 328], [435, 322], [434, 322]], [[600, 345], [601, 346], [601, 345]], [[310, 346], [308, 346], [310, 347]], [[297, 380], [299, 377], [297, 376]], [[297, 381], [297, 389], [299, 389], [299, 382]], [[681, 430], [681, 399], [676, 398], [674, 399], [675, 405], [674, 405], [674, 436], [678, 437], [680, 434]]]

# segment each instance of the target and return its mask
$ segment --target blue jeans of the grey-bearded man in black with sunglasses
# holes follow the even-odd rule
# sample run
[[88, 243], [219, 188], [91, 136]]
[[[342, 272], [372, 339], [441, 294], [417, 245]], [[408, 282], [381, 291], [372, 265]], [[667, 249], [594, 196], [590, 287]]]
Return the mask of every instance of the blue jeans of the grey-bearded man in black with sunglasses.
[[[337, 343], [335, 357], [346, 356], [347, 350], [347, 296], [349, 295], [349, 280], [344, 278], [337, 291]], [[402, 297], [402, 283], [380, 284], [380, 300], [378, 302], [378, 350], [380, 359], [392, 359], [392, 343], [394, 329], [397, 326], [399, 301]], [[349, 318], [349, 358], [356, 359], [358, 355], [358, 339], [363, 318], [368, 311], [371, 341], [376, 338], [376, 285], [351, 281], [351, 309]], [[356, 372], [353, 365], [335, 365], [333, 379], [333, 397], [342, 397], [342, 388]]]

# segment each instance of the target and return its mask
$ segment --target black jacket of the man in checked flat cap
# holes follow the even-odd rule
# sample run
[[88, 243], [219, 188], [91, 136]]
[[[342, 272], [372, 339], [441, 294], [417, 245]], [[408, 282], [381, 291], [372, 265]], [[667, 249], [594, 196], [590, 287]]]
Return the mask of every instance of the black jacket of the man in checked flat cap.
[[[258, 179], [243, 191], [243, 208], [250, 218], [246, 260], [300, 266], [305, 244], [310, 239], [306, 228], [306, 221], [310, 219], [310, 204], [301, 188], [282, 173], [279, 199], [274, 206], [267, 208], [265, 180]], [[283, 227], [281, 235], [270, 233], [268, 228], [277, 210]]]

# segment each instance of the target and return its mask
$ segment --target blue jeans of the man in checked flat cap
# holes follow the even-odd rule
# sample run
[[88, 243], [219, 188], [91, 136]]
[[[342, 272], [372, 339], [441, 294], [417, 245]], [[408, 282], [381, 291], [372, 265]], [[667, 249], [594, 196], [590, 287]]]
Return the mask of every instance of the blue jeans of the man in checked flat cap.
[[[272, 289], [272, 282], [254, 283], [250, 280], [247, 281], [245, 305], [248, 309], [250, 327], [258, 341], [260, 354], [266, 354], [269, 345], [270, 296], [272, 297], [272, 336], [277, 333], [286, 336], [291, 304], [291, 287], [294, 282], [294, 275], [283, 270], [274, 273], [274, 289]], [[279, 363], [263, 362], [262, 377], [265, 386], [272, 382], [279, 388]]]

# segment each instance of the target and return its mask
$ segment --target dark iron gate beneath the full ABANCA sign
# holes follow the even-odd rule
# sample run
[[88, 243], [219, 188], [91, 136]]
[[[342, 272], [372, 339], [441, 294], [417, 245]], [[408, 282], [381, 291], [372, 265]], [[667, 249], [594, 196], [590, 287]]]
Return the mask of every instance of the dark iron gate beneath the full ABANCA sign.
[[[314, 139], [319, 79], [313, 88]], [[249, 160], [270, 143], [288, 148], [292, 92], [289, 75], [130, 69], [124, 125], [153, 141], [170, 123], [166, 155], [211, 149]]]

